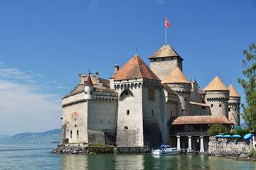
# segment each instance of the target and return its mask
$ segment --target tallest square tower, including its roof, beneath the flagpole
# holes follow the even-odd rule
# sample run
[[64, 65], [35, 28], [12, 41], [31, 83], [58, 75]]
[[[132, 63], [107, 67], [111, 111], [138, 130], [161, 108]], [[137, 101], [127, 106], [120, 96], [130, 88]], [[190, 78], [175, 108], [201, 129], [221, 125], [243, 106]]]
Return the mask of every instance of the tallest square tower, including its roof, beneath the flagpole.
[[182, 71], [183, 59], [171, 48], [170, 45], [163, 45], [151, 57], [150, 69], [159, 79], [165, 79], [171, 72], [178, 67]]

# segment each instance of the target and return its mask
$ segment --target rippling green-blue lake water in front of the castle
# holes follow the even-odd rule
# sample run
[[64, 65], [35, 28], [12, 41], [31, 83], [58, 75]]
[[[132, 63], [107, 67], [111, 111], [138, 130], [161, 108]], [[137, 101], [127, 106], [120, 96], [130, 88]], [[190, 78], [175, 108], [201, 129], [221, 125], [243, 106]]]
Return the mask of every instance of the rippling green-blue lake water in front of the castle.
[[55, 145], [0, 145], [0, 169], [256, 169], [256, 162], [203, 155], [51, 154]]

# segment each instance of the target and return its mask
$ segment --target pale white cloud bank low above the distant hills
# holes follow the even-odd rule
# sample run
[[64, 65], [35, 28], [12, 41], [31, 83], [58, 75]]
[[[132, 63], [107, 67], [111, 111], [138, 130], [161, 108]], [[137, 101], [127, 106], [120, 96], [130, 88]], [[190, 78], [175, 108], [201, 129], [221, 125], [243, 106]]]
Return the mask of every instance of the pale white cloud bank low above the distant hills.
[[0, 80], [0, 129], [3, 134], [60, 128], [60, 97], [41, 94], [28, 84]]

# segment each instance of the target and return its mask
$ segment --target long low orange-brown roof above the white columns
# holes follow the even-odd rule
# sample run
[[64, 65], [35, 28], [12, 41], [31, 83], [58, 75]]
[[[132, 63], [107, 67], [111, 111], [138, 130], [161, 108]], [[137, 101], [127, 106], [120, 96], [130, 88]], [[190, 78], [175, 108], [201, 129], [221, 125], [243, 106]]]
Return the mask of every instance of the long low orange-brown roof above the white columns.
[[232, 125], [233, 123], [225, 116], [213, 115], [192, 115], [192, 116], [178, 116], [170, 120], [171, 125], [198, 125], [198, 124], [225, 124]]

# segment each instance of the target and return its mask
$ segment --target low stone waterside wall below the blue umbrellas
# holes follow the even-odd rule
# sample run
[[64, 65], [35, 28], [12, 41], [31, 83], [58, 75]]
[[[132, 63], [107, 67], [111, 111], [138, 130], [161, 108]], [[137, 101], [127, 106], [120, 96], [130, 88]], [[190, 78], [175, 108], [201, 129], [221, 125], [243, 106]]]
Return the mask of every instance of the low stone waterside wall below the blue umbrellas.
[[210, 137], [208, 143], [208, 154], [217, 157], [248, 157], [250, 150], [253, 149], [252, 142], [222, 142], [216, 141], [215, 137]]

